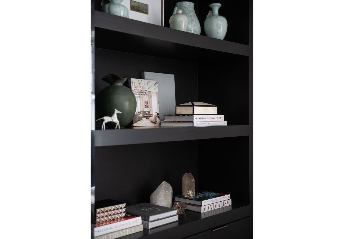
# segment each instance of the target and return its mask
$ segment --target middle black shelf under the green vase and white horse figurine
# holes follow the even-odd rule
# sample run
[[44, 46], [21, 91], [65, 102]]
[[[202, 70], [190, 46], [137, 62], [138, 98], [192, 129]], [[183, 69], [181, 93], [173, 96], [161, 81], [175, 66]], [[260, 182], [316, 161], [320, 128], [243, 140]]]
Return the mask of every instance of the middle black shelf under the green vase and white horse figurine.
[[248, 125], [210, 127], [147, 126], [123, 129], [92, 130], [95, 147], [211, 139], [250, 135]]

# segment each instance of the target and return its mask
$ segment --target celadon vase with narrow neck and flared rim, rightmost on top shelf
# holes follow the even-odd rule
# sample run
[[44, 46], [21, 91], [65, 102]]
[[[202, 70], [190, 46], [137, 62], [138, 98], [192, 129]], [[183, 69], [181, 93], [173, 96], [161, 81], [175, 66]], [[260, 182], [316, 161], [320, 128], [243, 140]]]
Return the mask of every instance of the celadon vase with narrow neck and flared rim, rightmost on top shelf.
[[204, 21], [204, 32], [208, 37], [223, 40], [227, 33], [227, 20], [223, 16], [219, 16], [220, 3], [212, 3], [209, 5], [212, 9], [212, 16]]

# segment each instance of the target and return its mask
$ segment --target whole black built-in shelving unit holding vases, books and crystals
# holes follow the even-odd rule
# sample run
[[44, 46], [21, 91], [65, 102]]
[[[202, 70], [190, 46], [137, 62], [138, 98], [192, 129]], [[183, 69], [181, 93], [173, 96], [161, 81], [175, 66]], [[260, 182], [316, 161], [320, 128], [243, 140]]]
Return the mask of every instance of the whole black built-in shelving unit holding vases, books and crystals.
[[[176, 2], [165, 0], [163, 27], [103, 13], [101, 1], [93, 0], [92, 95], [107, 86], [101, 81], [107, 74], [128, 78], [141, 78], [142, 71], [173, 74], [176, 104], [218, 105], [218, 114], [228, 125], [101, 130], [101, 122], [96, 122], [91, 130], [95, 200], [149, 202], [164, 180], [178, 195], [182, 176], [191, 172], [196, 190], [230, 193], [232, 205], [207, 213], [186, 210], [178, 222], [121, 238], [252, 238], [253, 1], [222, 3], [219, 14], [231, 24], [224, 40], [204, 34], [203, 22], [212, 3], [207, 0], [193, 1], [201, 35], [170, 29]], [[95, 109], [92, 118], [98, 118]]]

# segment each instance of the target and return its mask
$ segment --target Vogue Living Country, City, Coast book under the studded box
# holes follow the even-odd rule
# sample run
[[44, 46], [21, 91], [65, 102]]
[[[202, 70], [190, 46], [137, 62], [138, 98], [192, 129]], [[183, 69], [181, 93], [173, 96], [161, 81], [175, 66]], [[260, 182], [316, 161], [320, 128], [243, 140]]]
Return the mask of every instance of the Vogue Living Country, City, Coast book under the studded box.
[[141, 216], [126, 214], [126, 216], [124, 216], [123, 218], [95, 225], [94, 237], [140, 224], [142, 224]]

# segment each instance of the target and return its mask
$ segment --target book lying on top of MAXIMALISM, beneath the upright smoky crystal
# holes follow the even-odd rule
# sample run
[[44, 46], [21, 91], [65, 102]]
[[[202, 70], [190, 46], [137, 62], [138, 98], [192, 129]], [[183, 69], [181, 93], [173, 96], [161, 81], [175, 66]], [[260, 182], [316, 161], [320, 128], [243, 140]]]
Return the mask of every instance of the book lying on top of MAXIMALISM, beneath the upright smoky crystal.
[[208, 191], [196, 192], [194, 197], [183, 197], [182, 195], [174, 196], [175, 201], [196, 204], [200, 206], [205, 206], [228, 199], [231, 199], [231, 194]]

